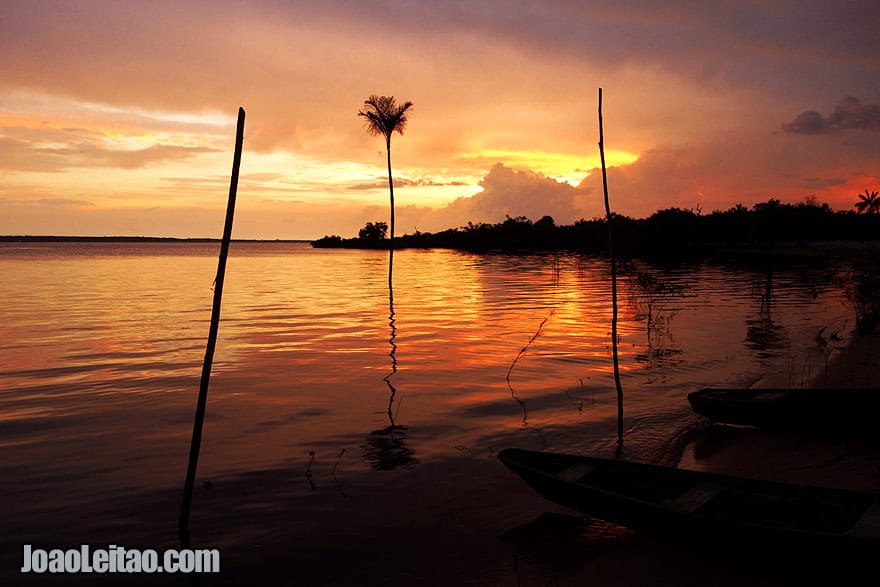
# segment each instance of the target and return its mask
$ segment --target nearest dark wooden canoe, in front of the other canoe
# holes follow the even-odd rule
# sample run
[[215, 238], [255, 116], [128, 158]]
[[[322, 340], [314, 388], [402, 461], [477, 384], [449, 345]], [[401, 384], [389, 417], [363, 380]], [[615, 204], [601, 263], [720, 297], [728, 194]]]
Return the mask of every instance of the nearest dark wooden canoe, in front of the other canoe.
[[635, 530], [774, 548], [880, 545], [872, 494], [521, 449], [499, 458], [545, 499]]

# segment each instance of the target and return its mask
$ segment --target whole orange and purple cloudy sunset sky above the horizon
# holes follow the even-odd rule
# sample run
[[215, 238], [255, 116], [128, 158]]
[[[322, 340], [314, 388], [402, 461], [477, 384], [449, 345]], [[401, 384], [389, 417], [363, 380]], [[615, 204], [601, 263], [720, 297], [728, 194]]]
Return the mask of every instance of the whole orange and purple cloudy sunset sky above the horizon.
[[0, 234], [398, 233], [880, 190], [876, 0], [4, 0]]

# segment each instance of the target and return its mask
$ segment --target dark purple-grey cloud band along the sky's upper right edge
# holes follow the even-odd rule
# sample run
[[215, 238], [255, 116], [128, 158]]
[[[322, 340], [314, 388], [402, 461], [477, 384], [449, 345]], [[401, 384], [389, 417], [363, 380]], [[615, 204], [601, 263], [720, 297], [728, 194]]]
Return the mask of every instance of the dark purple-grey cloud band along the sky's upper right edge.
[[827, 90], [858, 71], [859, 86], [849, 91], [862, 92], [876, 88], [880, 73], [880, 52], [869, 49], [880, 21], [875, 0], [438, 0], [430, 9], [422, 0], [377, 2], [386, 9], [363, 16], [381, 15], [378, 27], [420, 35], [458, 31], [499, 43], [515, 39], [517, 50], [588, 56], [608, 68], [659, 66], [712, 83], [794, 93]]

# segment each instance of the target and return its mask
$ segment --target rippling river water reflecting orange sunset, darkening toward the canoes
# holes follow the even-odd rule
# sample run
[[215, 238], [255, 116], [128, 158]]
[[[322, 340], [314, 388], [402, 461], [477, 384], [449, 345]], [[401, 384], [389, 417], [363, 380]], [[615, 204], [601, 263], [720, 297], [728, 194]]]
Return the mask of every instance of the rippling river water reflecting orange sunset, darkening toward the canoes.
[[[0, 244], [0, 579], [77, 582], [18, 575], [24, 543], [177, 544], [217, 249]], [[191, 524], [223, 551], [223, 581], [738, 577], [634, 533], [547, 522], [562, 510], [495, 458], [614, 453], [604, 260], [401, 251], [393, 297], [387, 266], [383, 252], [233, 245]], [[623, 456], [699, 468], [688, 392], [810, 381], [851, 334], [845, 271], [626, 264]], [[608, 544], [643, 564], [621, 574]]]

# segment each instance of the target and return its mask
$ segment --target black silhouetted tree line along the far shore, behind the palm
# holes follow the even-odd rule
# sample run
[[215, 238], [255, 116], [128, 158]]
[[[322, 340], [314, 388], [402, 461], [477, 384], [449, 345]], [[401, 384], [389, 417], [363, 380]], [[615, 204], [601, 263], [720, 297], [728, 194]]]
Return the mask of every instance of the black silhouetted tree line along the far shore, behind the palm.
[[[760, 247], [811, 241], [874, 240], [880, 235], [880, 214], [834, 211], [811, 198], [797, 204], [769, 199], [748, 208], [741, 204], [704, 214], [700, 210], [667, 208], [647, 218], [613, 214], [615, 248], [622, 254], [696, 253], [703, 248]], [[318, 248], [387, 249], [384, 222], [369, 222], [356, 238], [325, 236]], [[606, 218], [557, 225], [551, 216], [532, 221], [510, 217], [495, 224], [468, 222], [440, 232], [405, 234], [395, 248], [465, 250], [577, 250], [603, 253], [608, 247]]]

